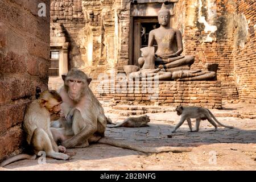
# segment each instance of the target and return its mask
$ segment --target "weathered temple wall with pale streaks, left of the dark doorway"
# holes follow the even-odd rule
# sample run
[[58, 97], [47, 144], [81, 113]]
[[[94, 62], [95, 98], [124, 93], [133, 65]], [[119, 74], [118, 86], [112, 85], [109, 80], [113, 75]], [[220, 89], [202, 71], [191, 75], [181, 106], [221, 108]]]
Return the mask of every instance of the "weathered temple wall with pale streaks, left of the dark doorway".
[[80, 68], [93, 78], [115, 68], [115, 7], [114, 0], [51, 1], [51, 22], [63, 26], [70, 43], [69, 68]]

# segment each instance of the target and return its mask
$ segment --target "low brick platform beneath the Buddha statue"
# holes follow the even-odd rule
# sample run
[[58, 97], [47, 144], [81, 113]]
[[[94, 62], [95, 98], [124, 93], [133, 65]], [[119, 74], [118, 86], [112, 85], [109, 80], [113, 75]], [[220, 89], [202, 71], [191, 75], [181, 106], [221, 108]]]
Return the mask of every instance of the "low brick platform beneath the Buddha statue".
[[167, 106], [182, 104], [220, 109], [222, 103], [220, 81], [159, 81], [158, 85], [148, 85], [145, 81], [127, 84], [92, 81], [90, 88], [99, 100], [113, 98], [119, 104], [154, 105], [158, 102]]

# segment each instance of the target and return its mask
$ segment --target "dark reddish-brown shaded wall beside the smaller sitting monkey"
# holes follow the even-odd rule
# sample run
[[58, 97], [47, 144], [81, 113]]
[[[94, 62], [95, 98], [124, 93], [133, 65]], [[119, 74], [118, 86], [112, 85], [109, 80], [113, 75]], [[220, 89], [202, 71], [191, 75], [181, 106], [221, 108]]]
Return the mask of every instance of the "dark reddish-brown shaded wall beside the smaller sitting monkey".
[[[39, 3], [46, 16], [39, 17]], [[48, 89], [49, 1], [0, 1], [0, 160], [21, 151], [26, 106]]]

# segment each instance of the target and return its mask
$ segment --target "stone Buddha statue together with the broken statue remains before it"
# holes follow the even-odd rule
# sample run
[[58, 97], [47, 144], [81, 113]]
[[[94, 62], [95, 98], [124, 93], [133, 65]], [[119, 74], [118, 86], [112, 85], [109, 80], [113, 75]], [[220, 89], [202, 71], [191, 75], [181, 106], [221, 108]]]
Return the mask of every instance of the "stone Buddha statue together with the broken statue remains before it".
[[[158, 12], [159, 28], [150, 31], [148, 36], [148, 47], [141, 48], [143, 57], [138, 59], [141, 69], [130, 73], [131, 77], [140, 77], [142, 80], [158, 77], [159, 80], [208, 80], [216, 77], [216, 72], [206, 69], [202, 71], [191, 70], [195, 57], [181, 55], [183, 43], [181, 32], [170, 28], [170, 10], [166, 5]], [[158, 49], [155, 52], [153, 47], [156, 41]], [[207, 64], [207, 68], [209, 64]], [[146, 77], [147, 76], [147, 77]]]

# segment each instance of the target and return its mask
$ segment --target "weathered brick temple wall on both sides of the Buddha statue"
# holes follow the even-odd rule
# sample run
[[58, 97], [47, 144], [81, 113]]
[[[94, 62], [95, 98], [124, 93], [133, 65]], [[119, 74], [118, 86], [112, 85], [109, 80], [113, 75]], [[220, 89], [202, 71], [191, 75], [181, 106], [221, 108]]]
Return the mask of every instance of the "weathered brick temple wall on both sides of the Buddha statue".
[[[191, 68], [202, 69], [205, 63], [217, 63], [222, 101], [255, 102], [255, 2], [169, 1], [174, 2], [172, 23], [183, 36], [183, 55], [195, 56]], [[131, 2], [51, 1], [51, 22], [63, 24], [71, 43], [69, 68], [80, 68], [94, 80], [99, 73], [123, 72], [123, 66], [132, 62], [129, 57]], [[248, 68], [251, 68], [249, 72]]]

